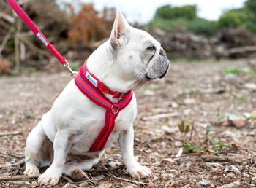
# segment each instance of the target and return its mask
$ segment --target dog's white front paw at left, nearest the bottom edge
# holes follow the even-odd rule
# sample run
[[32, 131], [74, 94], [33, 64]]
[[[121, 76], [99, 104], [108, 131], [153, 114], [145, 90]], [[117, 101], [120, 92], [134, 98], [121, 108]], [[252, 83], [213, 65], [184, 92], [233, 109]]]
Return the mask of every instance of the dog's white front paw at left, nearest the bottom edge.
[[41, 176], [39, 176], [38, 183], [41, 186], [42, 185], [54, 186], [54, 185], [58, 184], [60, 177], [61, 177], [61, 173], [48, 168], [45, 171], [45, 173], [43, 173]]

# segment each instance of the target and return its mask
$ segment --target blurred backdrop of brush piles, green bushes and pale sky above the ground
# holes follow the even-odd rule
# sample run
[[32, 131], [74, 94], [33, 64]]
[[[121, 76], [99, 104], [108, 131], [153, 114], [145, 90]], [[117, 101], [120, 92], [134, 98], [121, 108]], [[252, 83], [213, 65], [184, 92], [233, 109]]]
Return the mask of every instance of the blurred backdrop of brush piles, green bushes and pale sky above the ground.
[[[214, 1], [19, 1], [23, 9], [78, 68], [108, 38], [116, 7], [129, 23], [162, 42], [172, 61], [255, 58], [256, 2]], [[56, 60], [0, 4], [0, 74], [54, 71]]]

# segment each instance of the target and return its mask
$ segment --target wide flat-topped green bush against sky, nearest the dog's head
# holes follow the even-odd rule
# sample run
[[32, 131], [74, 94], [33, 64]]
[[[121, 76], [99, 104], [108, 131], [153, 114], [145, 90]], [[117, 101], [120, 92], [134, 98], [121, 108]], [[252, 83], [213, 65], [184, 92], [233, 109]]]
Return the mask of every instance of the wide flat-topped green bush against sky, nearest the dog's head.
[[172, 7], [165, 5], [157, 9], [155, 18], [162, 18], [166, 20], [174, 20], [177, 18], [184, 18], [192, 20], [197, 17], [197, 7], [194, 5], [187, 5], [182, 7]]

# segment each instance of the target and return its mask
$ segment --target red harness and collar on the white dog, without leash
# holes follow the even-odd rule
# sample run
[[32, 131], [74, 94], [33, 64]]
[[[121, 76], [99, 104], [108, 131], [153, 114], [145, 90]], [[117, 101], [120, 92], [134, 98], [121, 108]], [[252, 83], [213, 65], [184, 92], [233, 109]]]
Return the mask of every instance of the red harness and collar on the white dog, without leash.
[[[91, 101], [106, 109], [105, 124], [89, 149], [89, 152], [101, 151], [105, 148], [110, 133], [115, 127], [116, 117], [119, 111], [124, 109], [132, 100], [132, 91], [123, 94], [110, 90], [109, 87], [104, 85], [89, 72], [86, 62], [75, 76], [75, 85], [77, 85], [79, 90]], [[110, 94], [113, 98], [120, 98], [120, 101], [113, 103], [103, 93]]]

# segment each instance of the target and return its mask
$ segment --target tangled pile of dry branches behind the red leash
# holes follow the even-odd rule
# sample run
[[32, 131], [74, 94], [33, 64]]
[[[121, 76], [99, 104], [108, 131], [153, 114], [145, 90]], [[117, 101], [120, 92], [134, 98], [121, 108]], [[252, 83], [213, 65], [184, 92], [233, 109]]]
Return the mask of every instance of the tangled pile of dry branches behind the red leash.
[[[67, 38], [69, 20], [56, 4], [50, 0], [37, 0], [36, 3], [34, 0], [23, 0], [19, 4], [45, 35], [50, 36], [50, 41], [54, 43]], [[0, 7], [0, 74], [19, 74], [22, 67], [42, 68], [51, 59], [50, 54], [12, 12], [6, 1], [1, 1]], [[59, 43], [56, 45], [64, 52], [63, 46]]]

